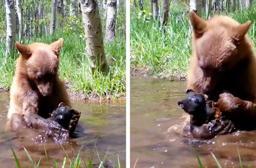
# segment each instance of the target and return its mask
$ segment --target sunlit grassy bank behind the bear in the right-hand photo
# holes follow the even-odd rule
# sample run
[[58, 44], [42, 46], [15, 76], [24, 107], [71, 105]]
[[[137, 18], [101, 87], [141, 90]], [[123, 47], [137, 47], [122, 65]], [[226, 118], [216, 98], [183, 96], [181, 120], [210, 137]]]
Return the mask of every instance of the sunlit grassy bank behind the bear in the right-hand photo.
[[[184, 77], [187, 75], [191, 57], [191, 38], [189, 38], [189, 16], [182, 16], [189, 9], [189, 3], [184, 1], [171, 1], [166, 34], [163, 29], [152, 20], [151, 3], [145, 2], [144, 10], [131, 7], [130, 23], [130, 49], [131, 67], [146, 67], [148, 73], [155, 77]], [[223, 11], [222, 14], [225, 14]], [[227, 15], [240, 23], [251, 20], [249, 36], [254, 44], [256, 4], [249, 10], [230, 12]], [[214, 12], [212, 12], [214, 15]], [[205, 11], [203, 11], [205, 18]], [[145, 68], [144, 68], [145, 69]], [[133, 72], [131, 72], [133, 73]]]

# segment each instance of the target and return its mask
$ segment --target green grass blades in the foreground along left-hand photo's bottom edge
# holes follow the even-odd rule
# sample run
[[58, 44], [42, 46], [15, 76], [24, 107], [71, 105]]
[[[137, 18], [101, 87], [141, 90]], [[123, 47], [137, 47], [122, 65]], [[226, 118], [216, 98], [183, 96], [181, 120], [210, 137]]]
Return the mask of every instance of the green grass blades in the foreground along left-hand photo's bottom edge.
[[[27, 151], [27, 149], [25, 147], [23, 147], [23, 148], [24, 148], [25, 152], [27, 153], [29, 161], [33, 165], [32, 167], [39, 168], [40, 167], [40, 161], [41, 161], [42, 158], [40, 158], [39, 161], [33, 160], [31, 155]], [[44, 149], [45, 149], [45, 146], [44, 146]], [[17, 155], [14, 152], [14, 150], [12, 149], [12, 147], [11, 147], [11, 150], [12, 150], [12, 153], [13, 153], [13, 156], [14, 156], [15, 163], [16, 163], [17, 167], [22, 168], [22, 166], [21, 166], [22, 163], [19, 162], [19, 159], [17, 158]], [[64, 148], [63, 148], [63, 150], [64, 150]], [[93, 161], [93, 159], [92, 159], [93, 154], [94, 154], [95, 151], [97, 152], [97, 156], [98, 156], [98, 161], [97, 162]], [[65, 150], [64, 150], [64, 152], [67, 154], [67, 152]], [[113, 161], [111, 161], [108, 158], [107, 153], [108, 153], [108, 150], [107, 150], [106, 154], [104, 155], [103, 159], [101, 159], [101, 157], [98, 154], [98, 149], [95, 145], [94, 149], [92, 151], [91, 157], [88, 157], [88, 159], [81, 158], [81, 151], [79, 151], [77, 156], [73, 157], [73, 158], [70, 158], [67, 155], [67, 157], [64, 157], [63, 162], [60, 163], [61, 168], [64, 168], [64, 167], [69, 167], [69, 168], [79, 168], [79, 167], [92, 168], [92, 167], [95, 167], [95, 164], [98, 168], [104, 168], [103, 163], [105, 163], [106, 160], [110, 161], [110, 163], [111, 163], [111, 165], [108, 165], [108, 166], [111, 166], [113, 168], [121, 168], [120, 161], [119, 161], [119, 155], [117, 154], [117, 162], [118, 163], [115, 164]], [[52, 162], [50, 163], [49, 158], [48, 158], [48, 154], [46, 152], [46, 149], [45, 149], [45, 158], [46, 158], [46, 163], [48, 165], [47, 167], [49, 167], [49, 168], [53, 168], [53, 167], [58, 168], [59, 167], [59, 164], [56, 162], [54, 157], [52, 157]], [[43, 167], [45, 167], [45, 166], [43, 166]]]

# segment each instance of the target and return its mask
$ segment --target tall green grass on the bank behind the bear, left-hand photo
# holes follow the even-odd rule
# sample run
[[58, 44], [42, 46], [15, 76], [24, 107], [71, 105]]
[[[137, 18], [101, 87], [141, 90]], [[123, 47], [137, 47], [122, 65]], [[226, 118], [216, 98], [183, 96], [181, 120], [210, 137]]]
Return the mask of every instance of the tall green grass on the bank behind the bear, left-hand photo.
[[[83, 32], [81, 32], [83, 33]], [[105, 53], [110, 72], [103, 75], [95, 71], [91, 73], [89, 58], [85, 51], [86, 42], [79, 37], [79, 33], [66, 34], [59, 29], [53, 36], [25, 39], [24, 44], [33, 42], [52, 43], [59, 38], [64, 39], [60, 55], [59, 74], [61, 79], [68, 82], [68, 86], [74, 92], [83, 91], [85, 96], [117, 98], [126, 92], [126, 55], [125, 38], [116, 34], [113, 42], [105, 43]], [[124, 36], [124, 35], [123, 35]], [[0, 43], [0, 87], [9, 89], [15, 70], [15, 61], [18, 57], [17, 51], [12, 56], [5, 57], [5, 40]]]

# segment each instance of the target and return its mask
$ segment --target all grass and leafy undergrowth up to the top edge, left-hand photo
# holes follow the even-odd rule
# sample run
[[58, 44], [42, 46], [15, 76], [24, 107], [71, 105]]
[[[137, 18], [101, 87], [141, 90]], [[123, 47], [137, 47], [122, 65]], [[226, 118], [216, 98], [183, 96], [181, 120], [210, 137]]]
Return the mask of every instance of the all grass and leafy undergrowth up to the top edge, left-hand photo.
[[[1, 1], [2, 2], [2, 1]], [[0, 2], [0, 3], [1, 3]], [[74, 92], [83, 91], [87, 98], [93, 95], [98, 97], [117, 98], [124, 95], [125, 76], [126, 76], [126, 56], [125, 56], [125, 1], [121, 1], [120, 9], [117, 16], [117, 32], [116, 40], [104, 44], [106, 59], [109, 64], [110, 73], [103, 75], [101, 72], [95, 71], [92, 74], [90, 69], [90, 61], [85, 51], [86, 41], [83, 28], [81, 13], [78, 16], [65, 18], [61, 13], [56, 12], [56, 31], [51, 37], [46, 34], [49, 31], [51, 20], [51, 0], [42, 1], [44, 7], [44, 17], [40, 21], [33, 19], [33, 36], [30, 39], [24, 37], [24, 44], [33, 42], [42, 42], [50, 44], [59, 38], [64, 38], [64, 45], [61, 50], [61, 61], [59, 74], [62, 79], [67, 81], [69, 88]], [[123, 5], [121, 7], [121, 5]], [[0, 5], [0, 10], [4, 9], [4, 5]], [[25, 10], [33, 10], [35, 17], [36, 10], [39, 9], [39, 1], [25, 0], [23, 5], [23, 21], [25, 24]], [[102, 14], [103, 12], [101, 12]], [[5, 37], [4, 16], [0, 13], [0, 40]], [[1, 17], [2, 16], [2, 17]], [[101, 19], [104, 24], [104, 19]], [[30, 25], [30, 19], [27, 24]], [[39, 36], [39, 25], [43, 26], [43, 36]], [[45, 32], [45, 27], [46, 31]], [[1, 30], [3, 29], [3, 31]], [[35, 31], [38, 31], [37, 36]], [[124, 30], [124, 31], [122, 31]], [[2, 32], [1, 32], [2, 31]], [[105, 29], [102, 29], [103, 34]], [[3, 34], [3, 35], [2, 35]], [[17, 40], [18, 41], [18, 35]], [[15, 61], [18, 53], [15, 50], [10, 56], [5, 55], [5, 39], [0, 41], [0, 88], [9, 89], [14, 76]]]

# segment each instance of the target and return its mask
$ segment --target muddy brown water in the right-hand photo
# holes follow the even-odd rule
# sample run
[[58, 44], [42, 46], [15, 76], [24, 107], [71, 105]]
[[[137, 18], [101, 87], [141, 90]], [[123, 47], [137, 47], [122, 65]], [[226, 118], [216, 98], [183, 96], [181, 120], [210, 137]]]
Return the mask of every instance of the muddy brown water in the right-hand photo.
[[213, 152], [223, 167], [240, 167], [238, 148], [242, 164], [256, 167], [255, 131], [200, 141], [187, 136], [186, 129], [169, 129], [184, 123], [184, 112], [177, 102], [185, 95], [185, 82], [132, 77], [130, 86], [131, 166], [138, 159], [137, 168], [199, 167], [197, 152], [204, 167], [215, 168]]

